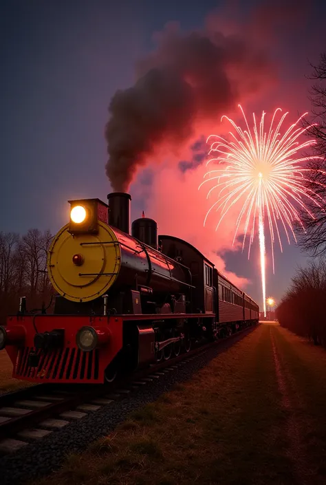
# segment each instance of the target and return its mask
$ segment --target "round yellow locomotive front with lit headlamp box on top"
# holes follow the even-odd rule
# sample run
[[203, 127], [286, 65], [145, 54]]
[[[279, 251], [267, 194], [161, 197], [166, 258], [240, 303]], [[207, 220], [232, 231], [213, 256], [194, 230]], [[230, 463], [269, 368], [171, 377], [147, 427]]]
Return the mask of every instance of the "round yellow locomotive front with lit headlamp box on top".
[[70, 222], [59, 230], [47, 256], [55, 290], [76, 302], [94, 300], [116, 281], [120, 244], [107, 224], [107, 206], [100, 200], [69, 201]]

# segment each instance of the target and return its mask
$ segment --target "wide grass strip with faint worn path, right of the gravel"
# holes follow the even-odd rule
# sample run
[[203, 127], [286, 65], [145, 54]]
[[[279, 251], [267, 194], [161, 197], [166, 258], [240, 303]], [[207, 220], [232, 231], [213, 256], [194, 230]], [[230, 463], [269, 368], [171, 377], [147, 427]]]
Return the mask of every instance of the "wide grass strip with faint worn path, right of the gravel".
[[33, 485], [326, 483], [326, 352], [264, 323]]

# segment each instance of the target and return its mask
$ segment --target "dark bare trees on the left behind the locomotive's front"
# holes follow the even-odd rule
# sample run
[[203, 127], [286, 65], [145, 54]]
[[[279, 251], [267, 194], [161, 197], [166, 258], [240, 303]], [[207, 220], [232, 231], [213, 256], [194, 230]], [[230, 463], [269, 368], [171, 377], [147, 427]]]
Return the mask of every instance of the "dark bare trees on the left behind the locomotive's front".
[[0, 325], [6, 323], [8, 314], [17, 313], [19, 297], [26, 297], [28, 310], [50, 301], [46, 259], [51, 239], [49, 230], [0, 233]]

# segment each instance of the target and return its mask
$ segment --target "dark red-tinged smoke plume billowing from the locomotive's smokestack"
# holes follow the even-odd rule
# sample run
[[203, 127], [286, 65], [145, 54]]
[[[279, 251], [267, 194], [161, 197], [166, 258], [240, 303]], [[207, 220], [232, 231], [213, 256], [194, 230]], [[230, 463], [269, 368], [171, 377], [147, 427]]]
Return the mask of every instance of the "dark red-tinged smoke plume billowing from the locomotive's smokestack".
[[106, 173], [114, 191], [127, 191], [155, 153], [182, 149], [243, 98], [274, 77], [265, 52], [248, 34], [182, 34], [177, 24], [156, 36], [157, 50], [138, 63], [137, 81], [117, 91], [105, 128]]

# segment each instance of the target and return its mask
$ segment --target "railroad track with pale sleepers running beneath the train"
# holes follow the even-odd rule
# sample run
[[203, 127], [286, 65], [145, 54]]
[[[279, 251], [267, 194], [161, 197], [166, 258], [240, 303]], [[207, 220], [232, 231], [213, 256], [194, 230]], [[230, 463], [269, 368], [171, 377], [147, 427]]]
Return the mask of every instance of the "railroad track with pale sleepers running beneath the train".
[[247, 334], [255, 327], [248, 327], [217, 342], [207, 343], [190, 352], [180, 354], [133, 373], [128, 378], [108, 385], [54, 385], [39, 384], [0, 396], [0, 453], [14, 453], [30, 442], [62, 429], [73, 420], [80, 420], [87, 413], [96, 412], [115, 400], [127, 397], [146, 382], [159, 379], [175, 371], [210, 347], [230, 347], [233, 340]]

